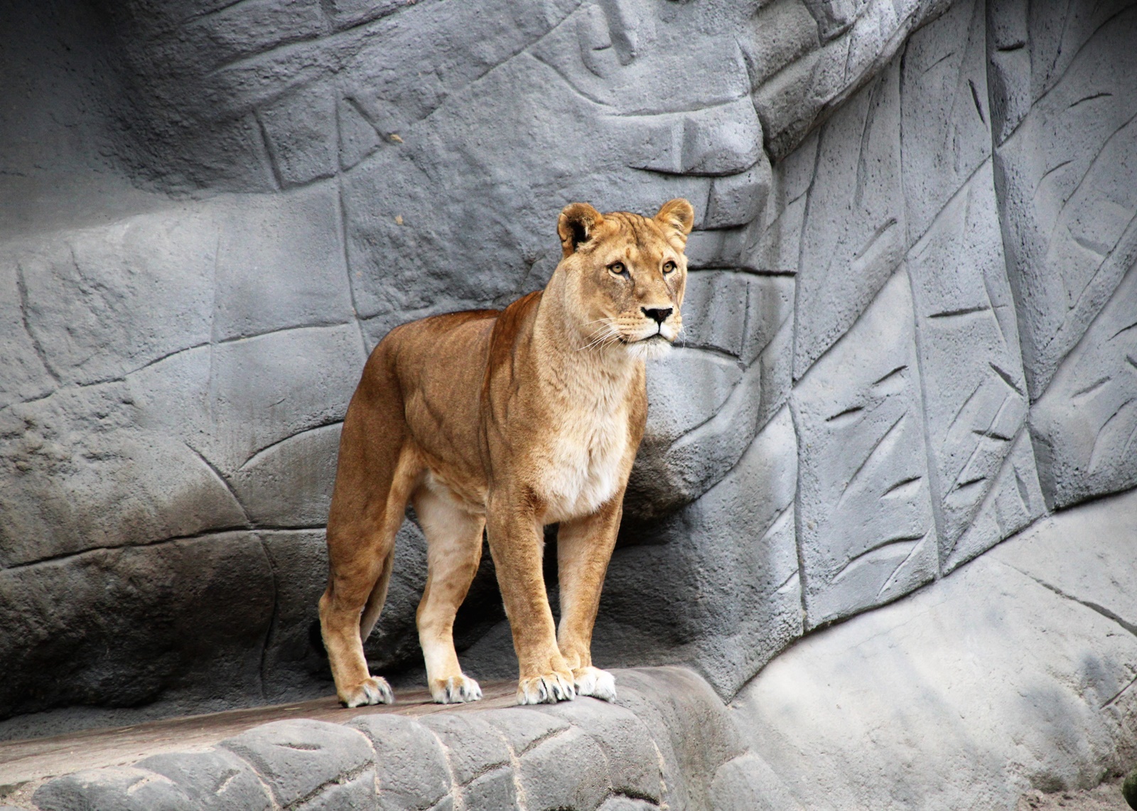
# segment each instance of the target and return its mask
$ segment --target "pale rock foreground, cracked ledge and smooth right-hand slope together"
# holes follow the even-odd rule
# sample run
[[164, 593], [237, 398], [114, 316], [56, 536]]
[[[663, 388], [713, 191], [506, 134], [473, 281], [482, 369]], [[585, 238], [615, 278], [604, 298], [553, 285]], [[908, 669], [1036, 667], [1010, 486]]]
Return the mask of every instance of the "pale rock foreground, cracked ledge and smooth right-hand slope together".
[[8, 796], [41, 811], [269, 796], [383, 811], [1120, 809], [1117, 783], [1102, 786], [1113, 805], [1079, 789], [1137, 762], [1135, 529], [1137, 491], [1040, 521], [811, 635], [729, 705], [686, 668], [616, 670], [614, 704], [276, 721]]

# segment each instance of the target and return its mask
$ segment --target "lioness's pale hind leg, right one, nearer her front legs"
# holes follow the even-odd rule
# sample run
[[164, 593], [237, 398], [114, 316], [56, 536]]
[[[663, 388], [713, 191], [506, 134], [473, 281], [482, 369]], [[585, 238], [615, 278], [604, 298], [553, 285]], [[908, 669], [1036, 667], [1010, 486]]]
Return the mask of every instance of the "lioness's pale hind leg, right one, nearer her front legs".
[[454, 618], [478, 573], [485, 519], [439, 490], [423, 485], [413, 496], [426, 536], [426, 588], [416, 619], [430, 694], [439, 704], [455, 704], [482, 697], [481, 687], [458, 664]]

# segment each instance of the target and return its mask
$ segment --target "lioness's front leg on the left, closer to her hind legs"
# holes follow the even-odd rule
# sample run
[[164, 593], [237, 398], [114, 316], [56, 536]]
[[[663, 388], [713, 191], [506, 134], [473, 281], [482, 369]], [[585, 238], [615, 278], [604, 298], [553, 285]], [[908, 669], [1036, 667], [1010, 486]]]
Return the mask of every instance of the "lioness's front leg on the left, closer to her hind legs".
[[573, 672], [557, 647], [545, 591], [543, 537], [537, 516], [526, 499], [499, 494], [490, 499], [485, 528], [521, 670], [517, 703], [551, 704], [575, 698]]

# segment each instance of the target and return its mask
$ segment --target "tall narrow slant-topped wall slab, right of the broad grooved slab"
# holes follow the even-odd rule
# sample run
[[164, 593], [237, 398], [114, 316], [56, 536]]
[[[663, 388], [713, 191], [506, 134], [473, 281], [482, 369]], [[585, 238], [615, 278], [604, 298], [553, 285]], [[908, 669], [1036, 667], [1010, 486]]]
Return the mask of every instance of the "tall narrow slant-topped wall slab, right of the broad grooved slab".
[[[997, 222], [987, 163], [940, 212], [906, 262], [915, 299], [941, 562], [952, 557], [961, 536], [972, 528], [1027, 415]], [[1029, 454], [1020, 463], [1032, 467]], [[1037, 474], [1028, 470], [1022, 479], [1020, 493], [1028, 494], [1026, 482], [1037, 481]], [[1020, 520], [1011, 521], [1005, 535], [986, 533], [988, 545], [1021, 529], [1041, 508], [1027, 495], [1020, 500]], [[977, 540], [972, 533], [966, 558], [982, 551], [974, 546]]]

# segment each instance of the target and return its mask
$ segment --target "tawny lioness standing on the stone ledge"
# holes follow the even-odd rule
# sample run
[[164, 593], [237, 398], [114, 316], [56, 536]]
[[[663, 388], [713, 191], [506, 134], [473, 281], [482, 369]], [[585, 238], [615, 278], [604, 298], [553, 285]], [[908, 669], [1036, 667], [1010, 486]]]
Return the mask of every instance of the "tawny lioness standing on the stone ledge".
[[[615, 698], [612, 675], [592, 667], [592, 624], [644, 436], [644, 358], [679, 334], [692, 222], [682, 199], [650, 220], [574, 202], [543, 291], [402, 324], [375, 347], [343, 422], [319, 599], [346, 705], [393, 701], [362, 640], [383, 607], [408, 499], [426, 536], [417, 622], [435, 702], [482, 695], [458, 665], [453, 627], [483, 528], [521, 665], [517, 703]], [[541, 576], [542, 527], [555, 522], [558, 629]]]

